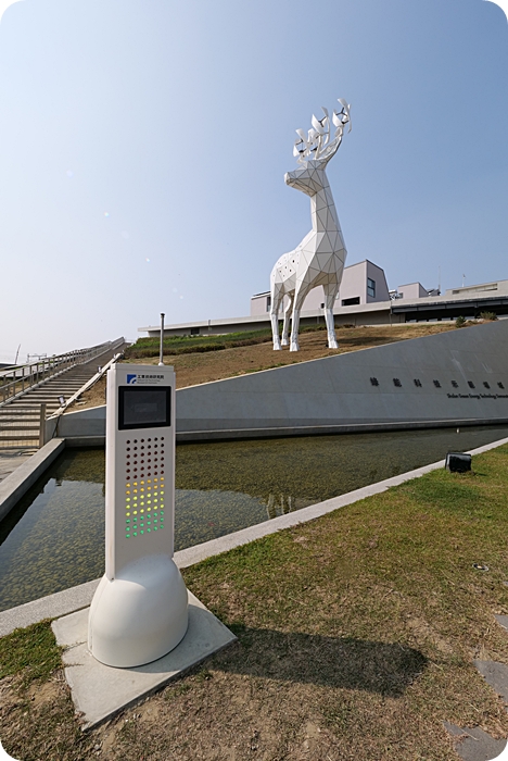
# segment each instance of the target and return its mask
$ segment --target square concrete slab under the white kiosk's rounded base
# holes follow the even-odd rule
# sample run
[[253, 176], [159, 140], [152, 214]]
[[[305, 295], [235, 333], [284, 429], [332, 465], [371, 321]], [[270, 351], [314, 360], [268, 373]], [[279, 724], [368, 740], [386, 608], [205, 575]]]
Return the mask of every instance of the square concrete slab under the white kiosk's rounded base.
[[157, 661], [135, 669], [113, 669], [97, 661], [88, 650], [88, 611], [53, 621], [52, 628], [63, 653], [65, 677], [72, 690], [81, 728], [89, 729], [142, 698], [237, 637], [189, 592], [189, 628], [181, 643]]

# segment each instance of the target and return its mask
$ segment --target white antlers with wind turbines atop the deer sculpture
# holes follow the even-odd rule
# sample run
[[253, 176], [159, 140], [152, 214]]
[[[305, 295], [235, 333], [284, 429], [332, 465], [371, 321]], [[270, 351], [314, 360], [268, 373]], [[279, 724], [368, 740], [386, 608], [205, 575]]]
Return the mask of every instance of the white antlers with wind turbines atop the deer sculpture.
[[299, 163], [303, 164], [313, 159], [329, 161], [336, 153], [346, 124], [350, 124], [348, 132], [351, 132], [351, 105], [343, 98], [339, 98], [339, 103], [342, 105], [341, 111], [333, 111], [331, 117], [335, 126], [333, 139], [330, 139], [330, 116], [325, 107], [321, 107], [325, 113], [322, 118], [316, 118], [313, 115], [313, 128], [308, 130], [307, 136], [303, 129], [296, 129], [300, 139], [294, 142], [293, 155], [297, 157]]

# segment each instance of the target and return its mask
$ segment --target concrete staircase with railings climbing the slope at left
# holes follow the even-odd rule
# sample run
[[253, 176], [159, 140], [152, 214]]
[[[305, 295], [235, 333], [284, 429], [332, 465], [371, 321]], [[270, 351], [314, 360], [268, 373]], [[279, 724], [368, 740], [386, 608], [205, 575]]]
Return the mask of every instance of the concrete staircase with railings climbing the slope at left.
[[60, 397], [68, 400], [125, 347], [115, 347], [89, 362], [71, 367], [40, 386], [26, 391], [11, 403], [0, 407], [0, 450], [36, 449], [41, 429], [41, 404], [46, 404], [46, 417], [60, 407]]

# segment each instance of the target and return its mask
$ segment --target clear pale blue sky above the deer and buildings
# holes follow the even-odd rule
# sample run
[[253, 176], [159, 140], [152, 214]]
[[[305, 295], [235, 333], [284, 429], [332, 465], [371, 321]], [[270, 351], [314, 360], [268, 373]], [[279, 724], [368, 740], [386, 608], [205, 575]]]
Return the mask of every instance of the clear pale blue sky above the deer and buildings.
[[[483, 0], [24, 0], [0, 23], [0, 361], [249, 314], [309, 228], [297, 127], [390, 287], [508, 278], [508, 24]], [[109, 214], [107, 216], [105, 214]]]

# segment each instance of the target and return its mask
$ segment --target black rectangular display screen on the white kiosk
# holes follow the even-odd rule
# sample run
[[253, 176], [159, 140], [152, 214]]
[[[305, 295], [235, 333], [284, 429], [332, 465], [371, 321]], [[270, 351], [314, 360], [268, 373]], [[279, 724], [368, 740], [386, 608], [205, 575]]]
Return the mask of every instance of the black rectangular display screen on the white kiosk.
[[157, 428], [172, 424], [172, 388], [120, 386], [118, 429]]

